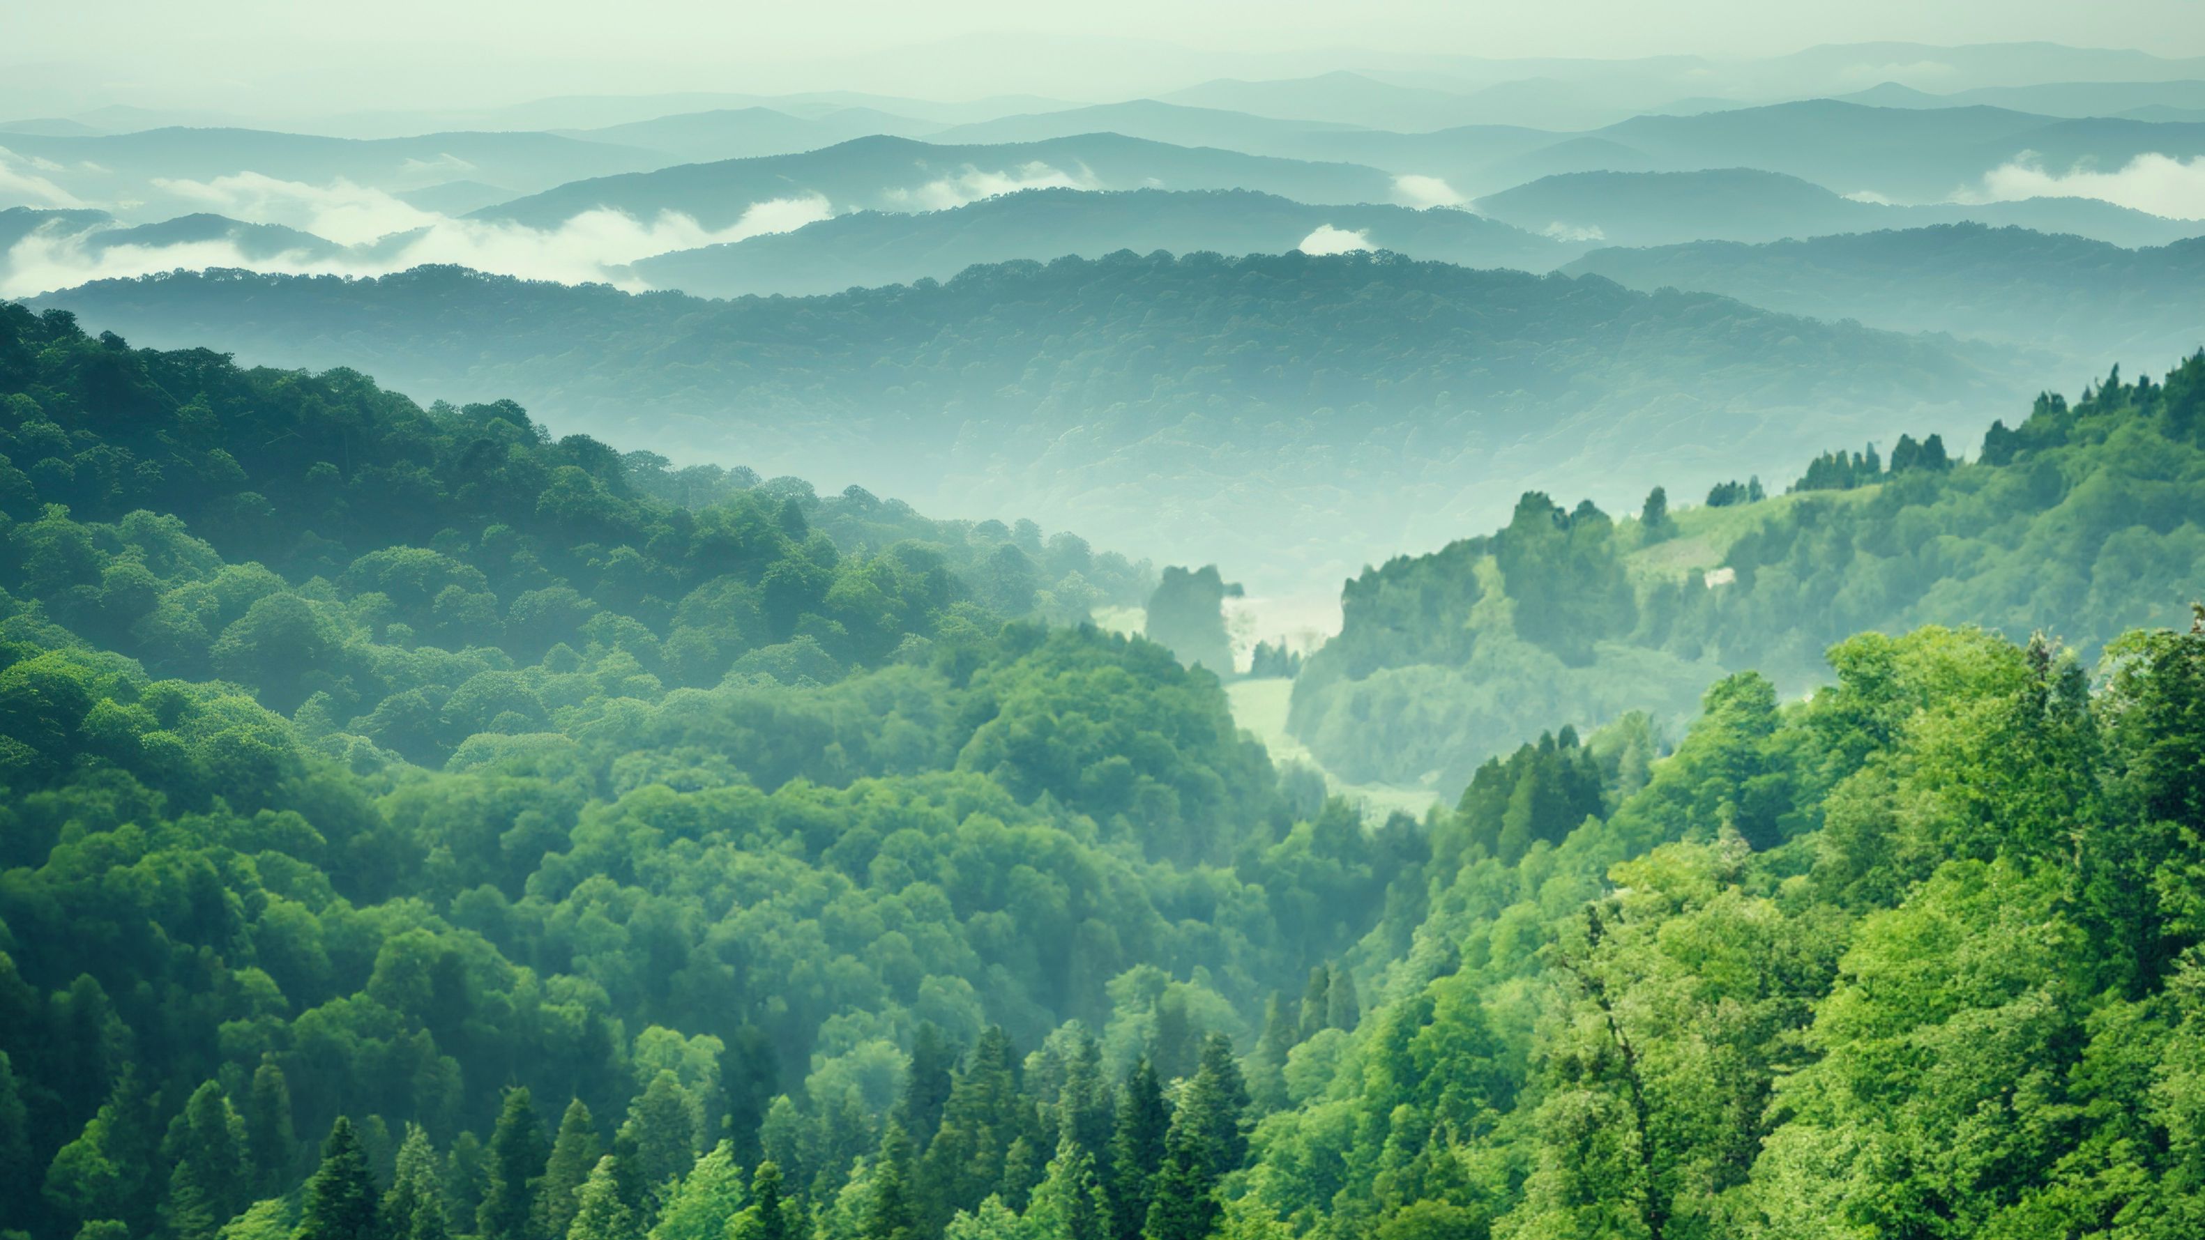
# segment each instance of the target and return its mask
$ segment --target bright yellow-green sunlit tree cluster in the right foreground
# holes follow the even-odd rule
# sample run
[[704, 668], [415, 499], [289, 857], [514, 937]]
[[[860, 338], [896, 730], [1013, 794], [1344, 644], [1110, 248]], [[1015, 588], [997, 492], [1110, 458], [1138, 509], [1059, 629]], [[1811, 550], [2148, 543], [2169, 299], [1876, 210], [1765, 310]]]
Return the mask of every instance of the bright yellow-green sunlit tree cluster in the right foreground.
[[2198, 623], [2119, 637], [2095, 692], [2051, 641], [1936, 628], [1837, 645], [1804, 703], [1729, 676], [1652, 766], [1510, 760], [1513, 797], [1541, 762], [1601, 793], [1515, 859], [1486, 766], [1422, 914], [1363, 947], [1369, 1015], [1290, 1055], [1228, 1220], [2196, 1233]]

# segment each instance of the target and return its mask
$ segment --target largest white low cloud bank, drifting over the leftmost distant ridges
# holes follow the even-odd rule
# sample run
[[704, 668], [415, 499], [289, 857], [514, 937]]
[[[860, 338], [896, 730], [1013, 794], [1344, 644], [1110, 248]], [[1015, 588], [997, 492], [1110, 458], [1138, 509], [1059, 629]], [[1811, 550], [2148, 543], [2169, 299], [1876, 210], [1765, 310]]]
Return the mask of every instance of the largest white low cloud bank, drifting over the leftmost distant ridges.
[[[4, 181], [0, 181], [4, 185]], [[556, 229], [514, 222], [459, 220], [410, 207], [381, 189], [335, 181], [302, 185], [262, 174], [214, 181], [165, 181], [163, 192], [190, 205], [247, 225], [282, 225], [329, 244], [273, 251], [256, 238], [251, 253], [234, 240], [205, 238], [179, 244], [108, 244], [112, 229], [68, 229], [49, 222], [18, 240], [0, 258], [0, 295], [29, 297], [88, 280], [152, 275], [176, 269], [243, 267], [289, 275], [388, 275], [448, 262], [564, 284], [609, 282], [631, 291], [646, 284], [626, 264], [677, 249], [736, 242], [825, 220], [827, 198], [770, 198], [752, 203], [725, 229], [708, 229], [679, 211], [639, 220], [622, 211], [595, 209]]]

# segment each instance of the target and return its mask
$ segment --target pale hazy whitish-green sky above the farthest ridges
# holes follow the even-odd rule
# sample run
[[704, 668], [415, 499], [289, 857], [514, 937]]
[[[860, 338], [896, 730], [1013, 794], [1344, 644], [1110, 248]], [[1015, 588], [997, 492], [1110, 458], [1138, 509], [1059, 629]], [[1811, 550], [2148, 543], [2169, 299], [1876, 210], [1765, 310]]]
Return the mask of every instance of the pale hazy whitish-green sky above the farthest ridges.
[[803, 88], [1105, 99], [1369, 53], [1744, 57], [1865, 40], [2205, 55], [2205, 0], [0, 0], [0, 110]]

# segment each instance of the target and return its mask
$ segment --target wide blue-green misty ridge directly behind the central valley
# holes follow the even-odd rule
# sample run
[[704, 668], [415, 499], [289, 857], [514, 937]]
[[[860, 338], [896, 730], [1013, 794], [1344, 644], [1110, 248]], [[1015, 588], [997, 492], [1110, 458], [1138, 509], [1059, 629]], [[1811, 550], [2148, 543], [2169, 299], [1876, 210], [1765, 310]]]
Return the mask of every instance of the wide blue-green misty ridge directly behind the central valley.
[[1369, 253], [1010, 262], [803, 300], [417, 269], [170, 275], [42, 304], [154, 344], [514, 396], [560, 429], [935, 511], [986, 496], [1257, 588], [1502, 520], [1526, 485], [1636, 496], [1830, 438], [1976, 434], [2018, 381], [1943, 339]]

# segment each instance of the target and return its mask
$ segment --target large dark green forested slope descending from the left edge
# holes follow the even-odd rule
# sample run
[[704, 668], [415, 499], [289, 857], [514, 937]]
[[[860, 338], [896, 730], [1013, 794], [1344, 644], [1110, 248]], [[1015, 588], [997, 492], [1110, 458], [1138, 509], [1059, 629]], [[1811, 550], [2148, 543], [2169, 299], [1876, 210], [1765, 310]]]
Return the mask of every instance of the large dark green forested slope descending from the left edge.
[[404, 1236], [534, 1240], [600, 1141], [657, 1222], [723, 1136], [688, 1192], [770, 1152], [833, 1203], [915, 1042], [904, 1130], [999, 1141], [928, 1218], [977, 1205], [1054, 1139], [975, 1119], [964, 1048], [1050, 1037], [1107, 1108], [1422, 863], [1208, 672], [1005, 623], [1140, 579], [0, 306], [0, 1231], [289, 1233], [430, 1176], [450, 1231]]

